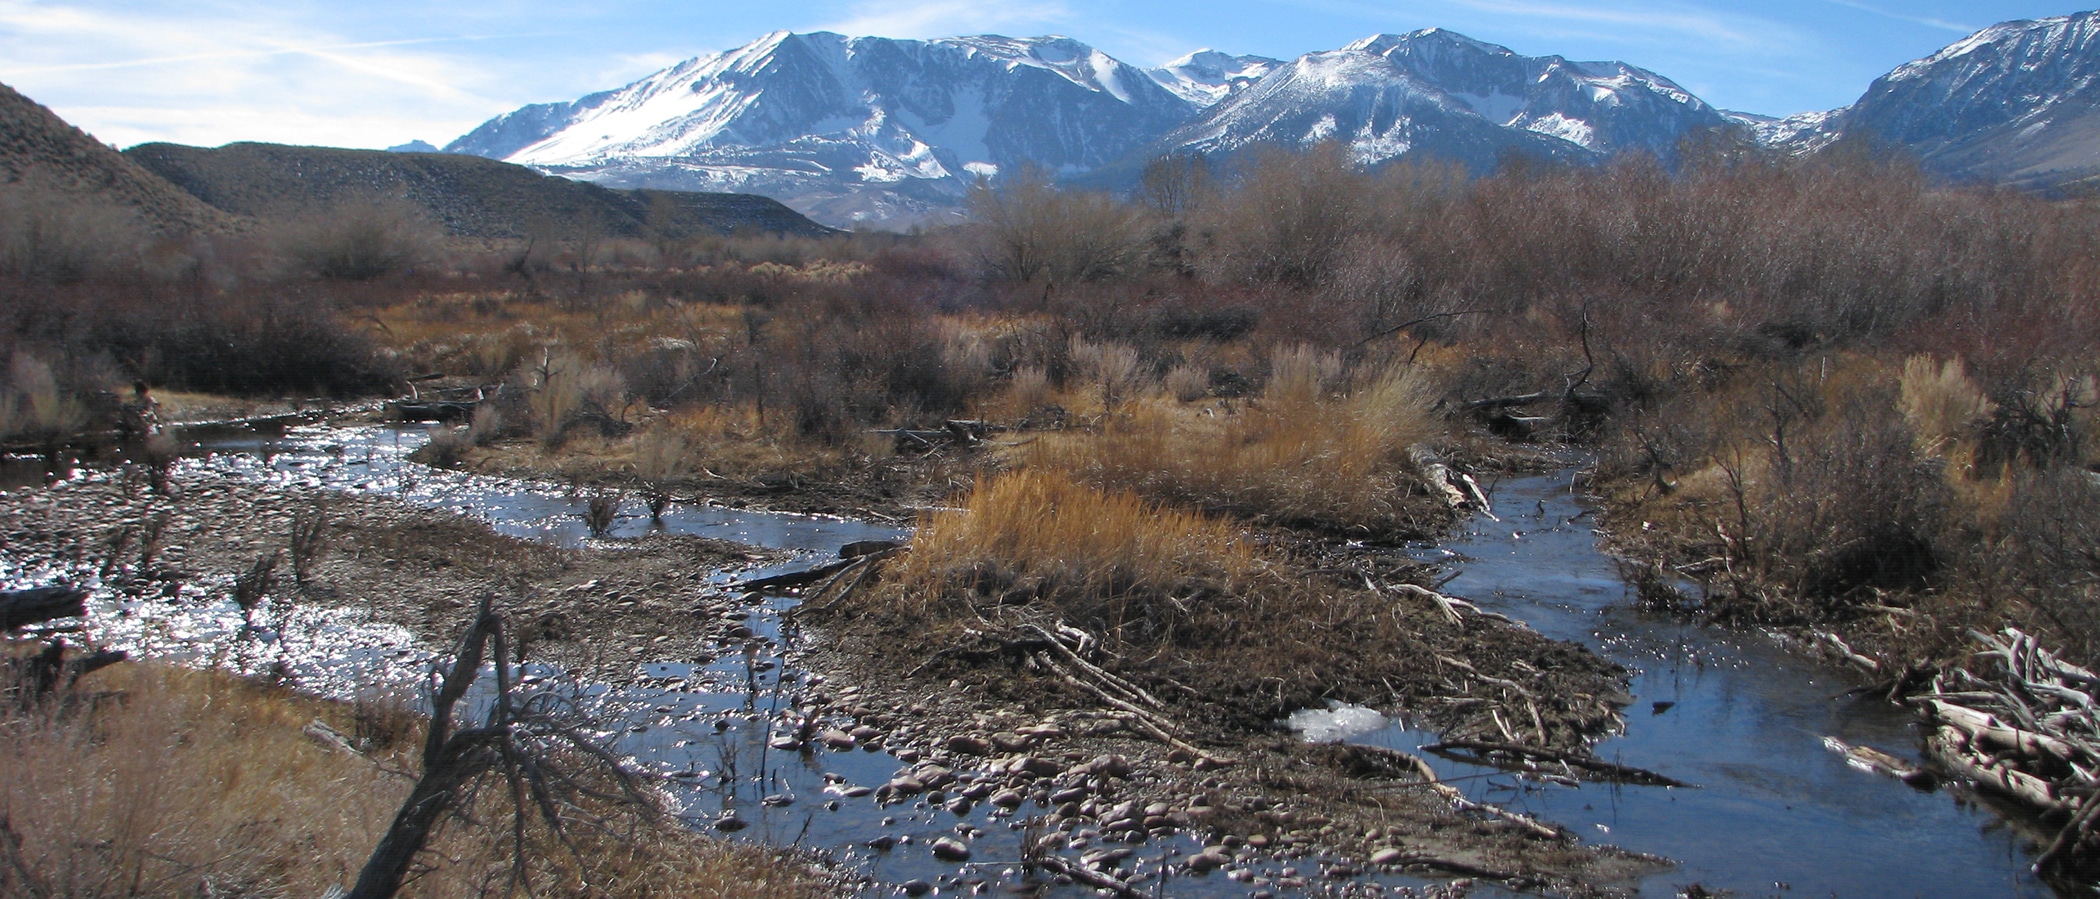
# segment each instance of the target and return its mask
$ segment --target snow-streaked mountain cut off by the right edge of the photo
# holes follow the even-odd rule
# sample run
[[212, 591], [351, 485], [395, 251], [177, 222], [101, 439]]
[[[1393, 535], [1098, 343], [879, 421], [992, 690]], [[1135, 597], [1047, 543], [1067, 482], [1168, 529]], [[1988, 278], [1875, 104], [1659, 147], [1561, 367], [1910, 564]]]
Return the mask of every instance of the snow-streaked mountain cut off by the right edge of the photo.
[[[2100, 172], [2100, 13], [2008, 21], [1877, 78], [1779, 145], [1865, 137], [1966, 181], [2056, 185]], [[1804, 147], [1806, 143], [1806, 147]]]

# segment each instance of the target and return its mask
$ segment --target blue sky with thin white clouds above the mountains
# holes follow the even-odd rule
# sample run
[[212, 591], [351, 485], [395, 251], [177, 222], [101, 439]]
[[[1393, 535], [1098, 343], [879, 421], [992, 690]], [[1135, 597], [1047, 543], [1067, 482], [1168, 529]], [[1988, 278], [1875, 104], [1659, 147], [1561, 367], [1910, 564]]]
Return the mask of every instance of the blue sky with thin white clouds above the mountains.
[[[2092, 4], [2094, 0], [2085, 0]], [[1449, 27], [1525, 55], [1623, 59], [1785, 116], [2041, 0], [0, 0], [0, 82], [99, 139], [443, 145], [489, 116], [628, 84], [766, 32], [1065, 34], [1136, 65], [1212, 46], [1289, 59]]]

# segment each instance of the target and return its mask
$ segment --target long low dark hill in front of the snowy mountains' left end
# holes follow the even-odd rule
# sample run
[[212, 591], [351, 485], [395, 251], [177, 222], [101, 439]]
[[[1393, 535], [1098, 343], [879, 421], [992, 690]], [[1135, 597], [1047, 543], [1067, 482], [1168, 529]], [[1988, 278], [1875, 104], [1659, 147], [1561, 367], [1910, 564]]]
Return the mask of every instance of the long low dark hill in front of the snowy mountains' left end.
[[607, 237], [775, 231], [825, 235], [775, 200], [746, 193], [611, 191], [458, 153], [229, 143], [143, 143], [124, 155], [220, 210], [311, 221], [344, 204], [405, 197], [454, 237], [598, 229]]

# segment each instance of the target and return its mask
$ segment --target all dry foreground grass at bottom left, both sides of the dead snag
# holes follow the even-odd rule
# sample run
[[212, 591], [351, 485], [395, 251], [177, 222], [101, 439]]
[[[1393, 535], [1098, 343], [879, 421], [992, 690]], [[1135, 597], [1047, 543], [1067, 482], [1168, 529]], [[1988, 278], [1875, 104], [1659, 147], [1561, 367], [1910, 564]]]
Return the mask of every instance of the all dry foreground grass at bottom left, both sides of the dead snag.
[[[94, 693], [88, 704], [88, 689]], [[410, 792], [420, 725], [395, 706], [296, 697], [214, 672], [118, 666], [78, 702], [0, 723], [0, 893], [317, 897], [349, 884]], [[323, 718], [374, 758], [326, 750]], [[685, 832], [540, 846], [540, 895], [804, 897], [804, 870]], [[10, 849], [13, 846], [13, 849]], [[410, 897], [502, 895], [496, 834], [454, 828]], [[588, 882], [588, 884], [586, 884]]]

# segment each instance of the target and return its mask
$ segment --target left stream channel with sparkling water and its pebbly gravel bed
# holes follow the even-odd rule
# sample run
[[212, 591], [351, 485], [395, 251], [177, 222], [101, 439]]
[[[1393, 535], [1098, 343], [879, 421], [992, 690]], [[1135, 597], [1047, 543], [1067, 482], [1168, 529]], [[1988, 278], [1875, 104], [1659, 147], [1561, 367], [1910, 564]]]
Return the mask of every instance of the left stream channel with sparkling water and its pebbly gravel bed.
[[[628, 508], [601, 540], [565, 487], [405, 462], [416, 431], [202, 437], [166, 498], [136, 471], [8, 492], [8, 580], [94, 584], [90, 628], [126, 649], [338, 695], [416, 683], [494, 588], [533, 676], [571, 683], [691, 823], [819, 846], [907, 893], [1021, 884], [1025, 857], [1197, 897], [1449, 895], [1483, 874], [1592, 893], [1657, 865], [1455, 813], [1281, 733], [1245, 739], [1239, 765], [1191, 765], [1090, 702], [911, 681], [880, 647], [813, 641], [781, 615], [794, 597], [731, 588], [888, 527], [674, 506], [662, 525]], [[315, 513], [336, 536], [313, 578], [281, 578], [244, 628], [235, 578]], [[1380, 849], [1399, 855], [1371, 865]], [[1058, 880], [1037, 886], [1090, 891]]]

